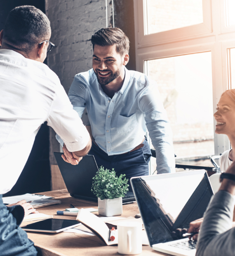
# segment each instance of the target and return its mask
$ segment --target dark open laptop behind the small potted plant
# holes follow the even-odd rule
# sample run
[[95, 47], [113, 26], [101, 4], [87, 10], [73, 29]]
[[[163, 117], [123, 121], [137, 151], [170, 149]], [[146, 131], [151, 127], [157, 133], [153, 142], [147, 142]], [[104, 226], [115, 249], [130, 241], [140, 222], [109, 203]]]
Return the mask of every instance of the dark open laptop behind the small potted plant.
[[[93, 177], [99, 171], [93, 155], [86, 155], [77, 165], [67, 163], [61, 157], [63, 153], [54, 152], [64, 183], [72, 197], [98, 201], [91, 191]], [[133, 192], [127, 192], [122, 198], [122, 203], [135, 201]]]

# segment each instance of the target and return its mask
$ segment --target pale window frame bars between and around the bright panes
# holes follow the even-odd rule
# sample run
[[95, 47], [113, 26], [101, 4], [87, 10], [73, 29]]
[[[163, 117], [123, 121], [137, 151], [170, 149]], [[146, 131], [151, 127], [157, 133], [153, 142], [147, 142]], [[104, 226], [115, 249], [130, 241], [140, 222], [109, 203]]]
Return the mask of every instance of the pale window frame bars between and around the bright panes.
[[[134, 0], [136, 70], [144, 73], [144, 62], [150, 59], [210, 51], [215, 112], [221, 94], [229, 89], [227, 49], [235, 48], [235, 25], [226, 26], [225, 0], [202, 0], [203, 26], [193, 25], [150, 35], [144, 35], [145, 1]], [[180, 36], [176, 36], [176, 32]], [[215, 126], [214, 119], [214, 130]], [[214, 133], [214, 149], [215, 155], [230, 149], [228, 137]]]

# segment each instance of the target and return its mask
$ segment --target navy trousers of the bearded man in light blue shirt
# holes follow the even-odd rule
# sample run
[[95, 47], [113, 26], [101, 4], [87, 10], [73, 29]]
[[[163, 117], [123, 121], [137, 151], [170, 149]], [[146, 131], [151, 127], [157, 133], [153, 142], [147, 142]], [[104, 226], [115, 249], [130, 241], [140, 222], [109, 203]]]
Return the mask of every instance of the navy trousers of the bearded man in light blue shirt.
[[125, 177], [129, 179], [129, 191], [132, 191], [130, 178], [148, 175], [148, 162], [152, 156], [146, 139], [140, 149], [113, 156], [108, 156], [106, 152], [92, 142], [92, 148], [88, 154], [94, 156], [98, 168], [103, 166], [104, 169], [110, 171], [114, 168], [116, 175], [125, 174]]

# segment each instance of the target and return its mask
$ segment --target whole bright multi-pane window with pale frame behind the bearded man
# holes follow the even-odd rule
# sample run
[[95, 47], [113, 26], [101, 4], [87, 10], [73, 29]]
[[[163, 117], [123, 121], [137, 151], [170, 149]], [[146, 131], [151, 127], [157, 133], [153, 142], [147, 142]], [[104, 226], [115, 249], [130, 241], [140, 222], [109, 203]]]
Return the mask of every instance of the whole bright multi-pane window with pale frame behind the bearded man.
[[234, 0], [134, 1], [136, 69], [158, 84], [176, 163], [212, 166], [230, 148], [214, 133], [213, 113], [235, 88], [234, 11]]

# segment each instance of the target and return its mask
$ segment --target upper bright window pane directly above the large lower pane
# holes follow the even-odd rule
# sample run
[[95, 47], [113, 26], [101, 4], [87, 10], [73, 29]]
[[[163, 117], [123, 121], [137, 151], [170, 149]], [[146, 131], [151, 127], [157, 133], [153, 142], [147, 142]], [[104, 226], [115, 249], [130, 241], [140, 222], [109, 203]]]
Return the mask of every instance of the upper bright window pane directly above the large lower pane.
[[146, 31], [153, 34], [203, 22], [202, 0], [146, 0]]

